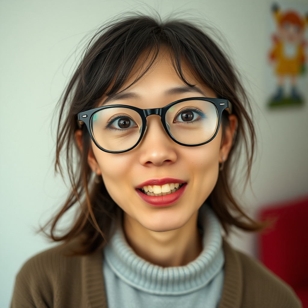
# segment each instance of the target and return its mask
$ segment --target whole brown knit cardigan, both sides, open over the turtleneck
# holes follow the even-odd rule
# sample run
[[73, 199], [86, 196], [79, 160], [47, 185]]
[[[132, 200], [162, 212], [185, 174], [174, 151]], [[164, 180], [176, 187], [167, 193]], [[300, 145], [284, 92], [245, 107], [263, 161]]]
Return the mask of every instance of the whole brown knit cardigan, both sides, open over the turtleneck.
[[[225, 280], [218, 308], [299, 308], [294, 291], [224, 241]], [[16, 278], [11, 308], [107, 308], [101, 251], [66, 257], [58, 246], [31, 258]]]

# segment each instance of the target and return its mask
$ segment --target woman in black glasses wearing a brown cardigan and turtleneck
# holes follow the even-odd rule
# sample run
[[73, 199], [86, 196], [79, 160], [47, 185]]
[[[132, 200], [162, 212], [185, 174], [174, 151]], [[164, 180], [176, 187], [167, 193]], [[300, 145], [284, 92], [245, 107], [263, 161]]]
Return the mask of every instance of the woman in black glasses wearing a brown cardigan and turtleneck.
[[228, 59], [193, 24], [134, 15], [96, 33], [59, 113], [56, 168], [65, 151], [72, 187], [50, 236], [63, 245], [23, 266], [12, 307], [300, 307], [221, 236], [220, 225], [262, 228], [230, 186], [241, 141], [251, 168], [247, 109]]

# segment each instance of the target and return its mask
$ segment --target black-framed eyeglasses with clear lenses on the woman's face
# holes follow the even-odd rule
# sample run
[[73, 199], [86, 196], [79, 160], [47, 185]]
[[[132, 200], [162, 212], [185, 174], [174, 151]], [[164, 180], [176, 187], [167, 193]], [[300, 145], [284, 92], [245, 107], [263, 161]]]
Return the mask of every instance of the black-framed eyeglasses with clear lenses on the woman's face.
[[104, 152], [123, 153], [136, 147], [147, 127], [147, 116], [159, 115], [168, 136], [187, 147], [206, 144], [216, 136], [227, 99], [190, 97], [162, 108], [140, 109], [129, 105], [107, 105], [78, 113], [91, 139]]

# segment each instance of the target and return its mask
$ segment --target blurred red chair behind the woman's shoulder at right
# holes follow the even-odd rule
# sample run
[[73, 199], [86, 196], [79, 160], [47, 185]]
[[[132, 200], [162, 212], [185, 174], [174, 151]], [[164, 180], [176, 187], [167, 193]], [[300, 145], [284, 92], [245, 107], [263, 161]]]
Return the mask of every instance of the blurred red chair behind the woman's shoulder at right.
[[292, 286], [308, 308], [308, 197], [263, 208], [260, 218], [275, 219], [259, 237], [260, 260]]

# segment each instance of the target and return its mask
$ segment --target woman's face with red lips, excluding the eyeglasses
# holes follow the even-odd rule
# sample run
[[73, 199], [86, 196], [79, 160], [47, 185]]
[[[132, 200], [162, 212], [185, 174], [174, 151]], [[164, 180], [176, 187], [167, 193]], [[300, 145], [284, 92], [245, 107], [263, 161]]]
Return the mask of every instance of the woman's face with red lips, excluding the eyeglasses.
[[[160, 53], [156, 65], [124, 91], [130, 95], [107, 105], [125, 104], [147, 109], [164, 107], [188, 97], [216, 97], [211, 89], [193, 77], [185, 65], [185, 78], [196, 86], [189, 87], [183, 83], [167, 54]], [[133, 72], [123, 89], [136, 77]], [[90, 153], [88, 162], [93, 171], [96, 169], [97, 174], [101, 173], [111, 198], [130, 219], [152, 231], [174, 230], [185, 225], [212, 192], [218, 177], [219, 161], [223, 156], [226, 159], [229, 151], [221, 146], [221, 136], [222, 128], [219, 128], [217, 136], [208, 144], [182, 146], [166, 134], [160, 116], [150, 115], [143, 139], [135, 148], [112, 154], [101, 151], [92, 142], [94, 157]], [[144, 184], [153, 187], [153, 184], [161, 186], [171, 182], [185, 183], [179, 186], [178, 193], [174, 193], [175, 200], [171, 204], [150, 204], [141, 195], [144, 192], [139, 190], [146, 186]], [[172, 199], [171, 195], [168, 194], [168, 200]]]

